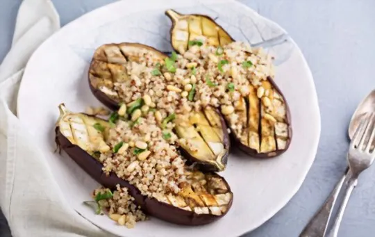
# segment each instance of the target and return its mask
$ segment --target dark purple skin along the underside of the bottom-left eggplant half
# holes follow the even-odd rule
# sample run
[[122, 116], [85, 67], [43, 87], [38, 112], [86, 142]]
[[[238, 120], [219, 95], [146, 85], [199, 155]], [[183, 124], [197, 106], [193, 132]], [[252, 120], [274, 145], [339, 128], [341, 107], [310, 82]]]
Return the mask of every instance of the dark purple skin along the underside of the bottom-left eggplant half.
[[[56, 144], [60, 149], [63, 149], [86, 173], [92, 177], [95, 181], [100, 183], [106, 188], [111, 190], [116, 189], [116, 185], [119, 184], [122, 187], [128, 188], [128, 193], [135, 199], [135, 203], [139, 205], [147, 215], [151, 215], [160, 220], [165, 220], [166, 222], [171, 222], [174, 224], [188, 225], [188, 226], [199, 226], [204, 224], [210, 224], [222, 218], [233, 203], [233, 193], [231, 202], [228, 204], [228, 209], [223, 215], [211, 215], [211, 214], [197, 214], [192, 211], [185, 211], [183, 209], [178, 209], [175, 206], [159, 202], [153, 197], [145, 197], [140, 193], [140, 190], [135, 186], [128, 183], [124, 179], [120, 179], [113, 172], [110, 175], [106, 175], [102, 168], [103, 165], [97, 161], [94, 157], [90, 156], [81, 147], [73, 145], [62, 133], [60, 129], [56, 127]], [[220, 177], [218, 174], [212, 174]], [[231, 187], [228, 185], [226, 180], [222, 178], [228, 187], [228, 191], [231, 192]]]

